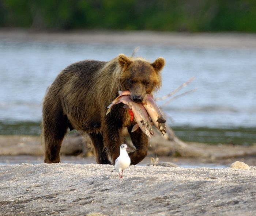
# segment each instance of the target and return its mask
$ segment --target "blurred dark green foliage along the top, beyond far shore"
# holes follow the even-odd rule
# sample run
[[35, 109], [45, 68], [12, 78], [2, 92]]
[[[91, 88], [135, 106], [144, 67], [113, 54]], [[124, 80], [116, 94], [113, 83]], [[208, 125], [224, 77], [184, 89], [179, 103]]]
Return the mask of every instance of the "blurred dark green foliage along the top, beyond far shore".
[[1, 0], [0, 27], [256, 32], [256, 0]]

